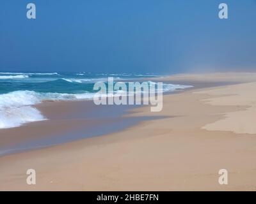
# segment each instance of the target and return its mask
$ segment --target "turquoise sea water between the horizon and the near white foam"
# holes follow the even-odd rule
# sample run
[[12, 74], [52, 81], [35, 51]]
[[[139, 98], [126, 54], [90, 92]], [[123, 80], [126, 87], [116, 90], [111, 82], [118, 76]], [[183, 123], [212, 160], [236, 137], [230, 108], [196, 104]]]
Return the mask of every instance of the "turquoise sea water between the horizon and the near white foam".
[[0, 94], [12, 91], [56, 92], [81, 94], [92, 92], [95, 82], [106, 81], [108, 77], [114, 80], [136, 79], [142, 77], [157, 77], [152, 74], [103, 74], [103, 73], [29, 73], [0, 72]]

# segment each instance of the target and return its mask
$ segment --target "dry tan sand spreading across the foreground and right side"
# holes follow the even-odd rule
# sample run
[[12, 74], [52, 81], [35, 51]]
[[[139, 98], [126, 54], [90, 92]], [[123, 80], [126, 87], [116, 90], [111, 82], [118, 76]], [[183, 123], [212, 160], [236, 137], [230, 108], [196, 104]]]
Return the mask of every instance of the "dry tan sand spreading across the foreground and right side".
[[[233, 78], [228, 83], [234, 83]], [[148, 106], [129, 112], [129, 117], [164, 116], [161, 119], [141, 121], [117, 133], [0, 157], [0, 189], [255, 191], [256, 134], [248, 134], [247, 126], [244, 133], [233, 133], [216, 124], [228, 113], [239, 117], [248, 108], [245, 102], [256, 101], [250, 98], [254, 89], [248, 89], [256, 85], [240, 83], [202, 85], [165, 94], [163, 112], [149, 112]], [[232, 104], [234, 94], [228, 94], [237, 90], [239, 105]], [[225, 103], [220, 101], [223, 97]], [[234, 128], [232, 117], [224, 121]], [[214, 129], [203, 128], [208, 124], [214, 124]], [[28, 168], [38, 175], [35, 186], [26, 185]], [[218, 184], [222, 168], [230, 173], [227, 186]]]

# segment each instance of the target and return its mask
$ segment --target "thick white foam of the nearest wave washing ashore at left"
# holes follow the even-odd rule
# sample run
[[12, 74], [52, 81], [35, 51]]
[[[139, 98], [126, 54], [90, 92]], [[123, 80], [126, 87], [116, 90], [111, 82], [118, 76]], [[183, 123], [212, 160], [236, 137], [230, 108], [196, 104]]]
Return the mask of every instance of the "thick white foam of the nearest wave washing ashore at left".
[[92, 99], [92, 93], [60, 94], [38, 93], [35, 91], [13, 91], [0, 95], [0, 128], [14, 128], [26, 124], [45, 120], [45, 117], [32, 105], [44, 100], [76, 100]]

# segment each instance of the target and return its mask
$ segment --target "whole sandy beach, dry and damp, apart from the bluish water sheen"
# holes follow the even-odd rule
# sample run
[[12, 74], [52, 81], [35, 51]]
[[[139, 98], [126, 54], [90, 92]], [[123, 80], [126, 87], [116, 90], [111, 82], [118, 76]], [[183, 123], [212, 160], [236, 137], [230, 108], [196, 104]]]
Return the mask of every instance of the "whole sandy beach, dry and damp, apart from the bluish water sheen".
[[[80, 106], [92, 110], [79, 101], [41, 103], [37, 108], [52, 120], [1, 130], [3, 147], [13, 140], [26, 143], [45, 136], [51, 140], [56, 132], [72, 134], [97, 127], [97, 122], [112, 126], [120, 118], [149, 118], [115, 133], [109, 130], [0, 156], [0, 190], [255, 191], [256, 74], [184, 74], [154, 81], [194, 87], [164, 94], [161, 112], [140, 106], [115, 118], [104, 115], [102, 120], [72, 119]], [[26, 183], [28, 169], [35, 169], [36, 185]], [[218, 182], [221, 169], [228, 171], [228, 185]]]

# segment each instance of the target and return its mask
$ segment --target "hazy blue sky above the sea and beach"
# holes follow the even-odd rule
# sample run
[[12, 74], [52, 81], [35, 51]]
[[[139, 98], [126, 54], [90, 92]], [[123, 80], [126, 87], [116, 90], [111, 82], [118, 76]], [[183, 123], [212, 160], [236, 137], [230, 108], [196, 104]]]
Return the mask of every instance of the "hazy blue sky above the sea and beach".
[[1, 71], [225, 69], [256, 71], [255, 0], [0, 1]]

